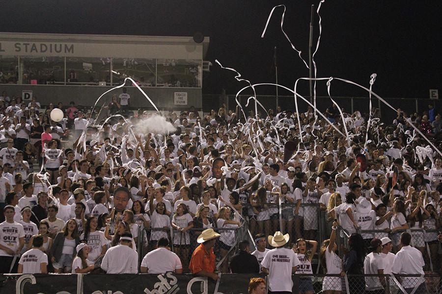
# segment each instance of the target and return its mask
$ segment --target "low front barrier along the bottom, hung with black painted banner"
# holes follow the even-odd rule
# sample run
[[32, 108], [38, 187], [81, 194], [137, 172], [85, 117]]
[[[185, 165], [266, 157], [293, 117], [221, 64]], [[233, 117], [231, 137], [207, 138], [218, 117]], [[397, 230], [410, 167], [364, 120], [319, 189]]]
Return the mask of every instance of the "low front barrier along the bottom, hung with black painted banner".
[[[247, 294], [252, 277], [260, 274], [219, 274], [218, 281], [191, 274], [4, 274], [0, 294]], [[385, 294], [440, 294], [439, 275], [292, 275], [292, 293], [299, 293], [300, 279], [311, 279], [313, 293], [324, 293], [322, 283], [335, 280], [341, 294], [364, 294], [365, 281], [383, 279]], [[301, 282], [302, 282], [301, 280]], [[381, 282], [380, 284], [381, 285]]]

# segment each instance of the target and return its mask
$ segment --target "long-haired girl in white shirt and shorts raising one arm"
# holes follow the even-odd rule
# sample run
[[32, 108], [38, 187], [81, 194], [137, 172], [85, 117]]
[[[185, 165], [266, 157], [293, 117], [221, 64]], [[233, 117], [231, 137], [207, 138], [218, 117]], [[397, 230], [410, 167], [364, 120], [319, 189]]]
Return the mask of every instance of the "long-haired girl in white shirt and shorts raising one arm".
[[[319, 257], [321, 259], [321, 265], [324, 269], [324, 273], [342, 275], [342, 260], [336, 254], [337, 245], [334, 242], [336, 239], [337, 225], [338, 223], [334, 221], [331, 227], [330, 239], [324, 240], [322, 243]], [[326, 276], [322, 281], [322, 291], [324, 291], [324, 294], [341, 294], [341, 285], [341, 277]]]

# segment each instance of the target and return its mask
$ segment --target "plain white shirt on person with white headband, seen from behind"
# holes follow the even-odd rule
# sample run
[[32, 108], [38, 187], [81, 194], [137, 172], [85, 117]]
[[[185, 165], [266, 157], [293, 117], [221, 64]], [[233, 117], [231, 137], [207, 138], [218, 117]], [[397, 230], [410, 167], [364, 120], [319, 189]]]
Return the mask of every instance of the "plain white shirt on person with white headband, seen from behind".
[[106, 251], [101, 268], [107, 273], [138, 273], [138, 253], [126, 245], [113, 246]]

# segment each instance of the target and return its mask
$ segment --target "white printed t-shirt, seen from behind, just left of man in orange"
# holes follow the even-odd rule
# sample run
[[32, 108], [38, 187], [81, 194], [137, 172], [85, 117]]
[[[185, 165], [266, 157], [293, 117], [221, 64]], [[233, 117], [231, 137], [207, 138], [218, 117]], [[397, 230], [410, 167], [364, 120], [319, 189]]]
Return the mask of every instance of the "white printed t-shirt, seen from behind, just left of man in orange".
[[183, 268], [178, 255], [164, 247], [159, 247], [147, 253], [141, 262], [141, 267], [147, 268], [149, 273], [154, 274], [166, 273], [167, 271], [175, 271]]

